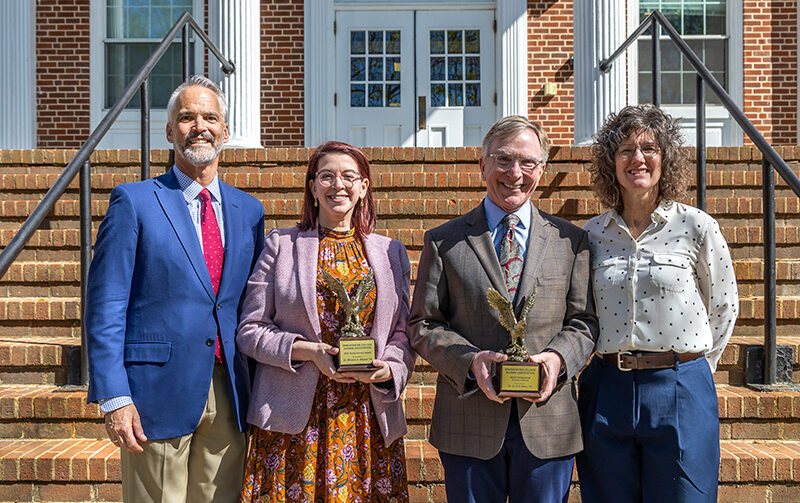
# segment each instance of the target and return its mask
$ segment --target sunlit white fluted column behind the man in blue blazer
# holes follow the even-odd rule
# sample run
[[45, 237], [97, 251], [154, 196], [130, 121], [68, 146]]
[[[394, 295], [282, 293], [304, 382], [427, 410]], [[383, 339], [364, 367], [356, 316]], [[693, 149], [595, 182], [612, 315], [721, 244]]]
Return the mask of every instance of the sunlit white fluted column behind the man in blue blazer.
[[[209, 75], [228, 98], [228, 147], [261, 146], [261, 23], [258, 0], [209, 0], [208, 31], [236, 71], [222, 73], [209, 55]], [[199, 47], [199, 46], [198, 46]]]

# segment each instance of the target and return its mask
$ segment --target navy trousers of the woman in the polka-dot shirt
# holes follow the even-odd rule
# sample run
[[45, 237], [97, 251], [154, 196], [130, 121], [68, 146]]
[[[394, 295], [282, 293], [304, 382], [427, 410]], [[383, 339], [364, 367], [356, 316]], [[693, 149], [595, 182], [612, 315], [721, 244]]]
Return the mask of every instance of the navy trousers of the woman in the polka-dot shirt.
[[578, 387], [583, 503], [717, 501], [719, 408], [705, 358], [624, 372], [595, 357]]

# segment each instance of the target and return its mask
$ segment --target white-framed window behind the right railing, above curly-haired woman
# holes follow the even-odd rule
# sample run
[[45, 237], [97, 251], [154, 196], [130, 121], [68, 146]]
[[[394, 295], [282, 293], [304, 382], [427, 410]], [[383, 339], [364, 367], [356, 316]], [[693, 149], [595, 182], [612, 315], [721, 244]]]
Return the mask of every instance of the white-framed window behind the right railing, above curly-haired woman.
[[[725, 0], [640, 0], [639, 16], [660, 10], [689, 47], [711, 70], [714, 77], [728, 88], [728, 41]], [[653, 101], [652, 28], [639, 39], [639, 102]], [[661, 103], [693, 105], [696, 96], [696, 72], [680, 50], [664, 33], [661, 34]], [[706, 93], [709, 103], [718, 104], [713, 93]]]

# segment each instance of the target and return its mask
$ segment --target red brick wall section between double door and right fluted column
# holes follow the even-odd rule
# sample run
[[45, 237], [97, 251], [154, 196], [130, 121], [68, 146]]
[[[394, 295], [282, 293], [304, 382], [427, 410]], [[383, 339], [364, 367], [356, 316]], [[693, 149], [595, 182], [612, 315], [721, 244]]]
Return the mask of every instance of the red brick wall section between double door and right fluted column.
[[[574, 135], [572, 2], [528, 2], [528, 117], [539, 122], [553, 145], [571, 145]], [[545, 82], [555, 82], [553, 97]]]

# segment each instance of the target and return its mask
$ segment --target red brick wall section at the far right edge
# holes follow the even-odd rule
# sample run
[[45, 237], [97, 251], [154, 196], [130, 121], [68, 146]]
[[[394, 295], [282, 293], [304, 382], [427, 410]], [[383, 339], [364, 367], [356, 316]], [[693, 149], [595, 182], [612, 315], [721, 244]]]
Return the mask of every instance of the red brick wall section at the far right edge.
[[744, 1], [744, 111], [775, 144], [797, 143], [797, 2]]

